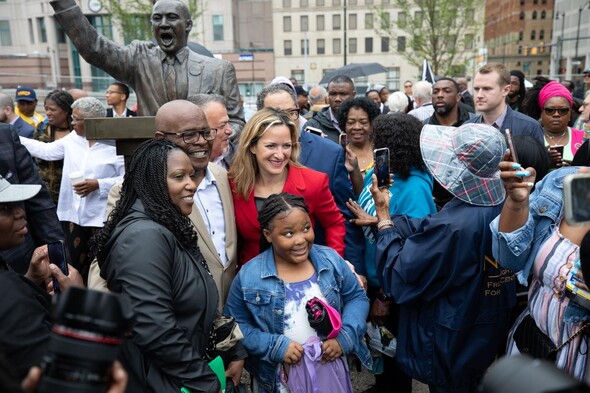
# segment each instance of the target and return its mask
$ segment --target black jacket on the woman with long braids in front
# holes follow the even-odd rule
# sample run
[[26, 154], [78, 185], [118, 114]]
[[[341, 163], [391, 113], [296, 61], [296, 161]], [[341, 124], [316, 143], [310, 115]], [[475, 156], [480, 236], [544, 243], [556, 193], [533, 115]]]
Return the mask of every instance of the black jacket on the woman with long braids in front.
[[136, 201], [105, 245], [101, 275], [127, 296], [136, 322], [123, 345], [127, 392], [218, 392], [205, 352], [218, 293], [200, 254], [189, 253]]

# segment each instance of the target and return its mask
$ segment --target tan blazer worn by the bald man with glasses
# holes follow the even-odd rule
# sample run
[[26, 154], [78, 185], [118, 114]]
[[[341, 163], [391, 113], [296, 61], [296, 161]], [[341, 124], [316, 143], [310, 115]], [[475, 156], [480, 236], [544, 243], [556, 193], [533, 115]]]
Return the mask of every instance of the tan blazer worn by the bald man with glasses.
[[[234, 204], [232, 201], [231, 189], [229, 187], [229, 181], [227, 179], [227, 171], [217, 164], [209, 163], [209, 170], [215, 177], [217, 190], [221, 197], [221, 203], [223, 205], [223, 217], [225, 219], [225, 252], [228, 258], [228, 264], [226, 267], [221, 263], [221, 259], [217, 254], [211, 235], [207, 229], [207, 225], [201, 216], [199, 208], [193, 206], [193, 211], [189, 218], [194, 224], [197, 233], [199, 235], [199, 249], [201, 254], [207, 261], [213, 280], [217, 285], [219, 291], [219, 311], [223, 310], [223, 305], [227, 299], [227, 294], [231, 283], [237, 273], [237, 232], [236, 232], [236, 221], [234, 213]], [[121, 197], [121, 183], [116, 184], [111, 188], [109, 192], [109, 198], [107, 201], [107, 216], [115, 207], [115, 203]], [[100, 268], [96, 260], [92, 262], [90, 267], [90, 274], [88, 277], [88, 287], [98, 290], [108, 290], [106, 282], [100, 277]]]

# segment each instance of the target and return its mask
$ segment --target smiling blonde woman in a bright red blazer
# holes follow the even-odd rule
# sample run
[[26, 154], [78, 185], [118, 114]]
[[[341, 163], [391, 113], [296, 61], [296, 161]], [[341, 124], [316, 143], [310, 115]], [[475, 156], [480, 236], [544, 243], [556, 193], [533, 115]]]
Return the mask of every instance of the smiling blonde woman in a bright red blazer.
[[240, 266], [259, 254], [258, 210], [270, 195], [301, 195], [312, 221], [326, 229], [326, 246], [344, 255], [344, 218], [328, 188], [328, 176], [301, 166], [297, 127], [289, 114], [264, 108], [242, 130], [229, 170], [238, 230]]

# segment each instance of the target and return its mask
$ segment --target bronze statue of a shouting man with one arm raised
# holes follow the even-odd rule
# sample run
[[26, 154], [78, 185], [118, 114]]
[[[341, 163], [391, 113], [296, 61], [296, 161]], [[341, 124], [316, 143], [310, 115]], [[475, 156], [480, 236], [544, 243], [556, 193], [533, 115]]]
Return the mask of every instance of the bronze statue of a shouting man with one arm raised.
[[232, 128], [244, 124], [234, 66], [226, 60], [199, 55], [187, 47], [193, 27], [188, 7], [178, 0], [158, 0], [152, 9], [152, 33], [158, 45], [133, 41], [118, 45], [99, 35], [75, 0], [50, 2], [80, 55], [137, 94], [139, 116], [154, 116], [168, 101], [189, 95], [222, 95]]

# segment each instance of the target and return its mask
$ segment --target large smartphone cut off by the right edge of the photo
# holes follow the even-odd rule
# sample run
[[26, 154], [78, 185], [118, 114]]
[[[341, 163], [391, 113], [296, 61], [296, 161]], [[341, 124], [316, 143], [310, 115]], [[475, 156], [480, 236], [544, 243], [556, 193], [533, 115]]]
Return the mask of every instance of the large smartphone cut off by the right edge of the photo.
[[575, 173], [563, 179], [563, 206], [568, 224], [590, 224], [590, 173]]

